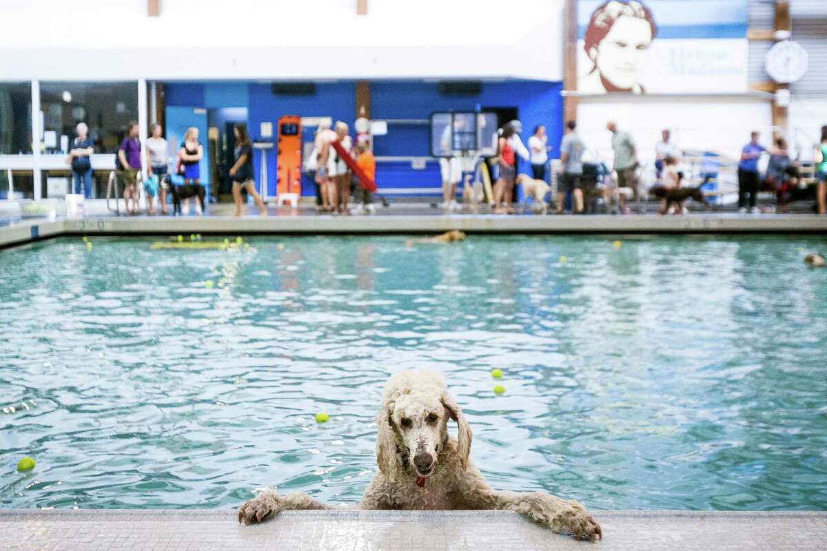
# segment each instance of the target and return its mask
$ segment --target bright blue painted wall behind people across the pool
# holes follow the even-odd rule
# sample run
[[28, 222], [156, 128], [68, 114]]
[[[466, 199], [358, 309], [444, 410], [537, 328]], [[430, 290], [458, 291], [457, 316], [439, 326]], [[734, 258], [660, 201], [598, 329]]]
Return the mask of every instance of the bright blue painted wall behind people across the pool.
[[[557, 156], [562, 138], [562, 83], [509, 81], [484, 83], [476, 97], [447, 97], [437, 91], [437, 83], [418, 81], [382, 81], [370, 84], [371, 115], [375, 119], [428, 119], [435, 111], [473, 111], [480, 107], [516, 107], [523, 121], [523, 142], [534, 125], [547, 126], [548, 143]], [[245, 101], [246, 100], [246, 101]], [[168, 106], [248, 107], [247, 124], [253, 140], [261, 140], [261, 122], [276, 123], [283, 115], [330, 116], [333, 121], [352, 125], [356, 106], [353, 81], [318, 83], [312, 96], [276, 96], [266, 83], [167, 83]], [[351, 129], [352, 130], [352, 129]], [[390, 125], [389, 135], [375, 138], [377, 156], [429, 154], [428, 126]], [[256, 154], [256, 179], [260, 169]], [[528, 171], [528, 166], [520, 167]], [[275, 155], [268, 154], [269, 190], [275, 194]], [[428, 163], [426, 169], [414, 170], [408, 163], [379, 164], [376, 173], [380, 188], [438, 188], [439, 169]], [[305, 178], [305, 196], [313, 195], [313, 184]]]

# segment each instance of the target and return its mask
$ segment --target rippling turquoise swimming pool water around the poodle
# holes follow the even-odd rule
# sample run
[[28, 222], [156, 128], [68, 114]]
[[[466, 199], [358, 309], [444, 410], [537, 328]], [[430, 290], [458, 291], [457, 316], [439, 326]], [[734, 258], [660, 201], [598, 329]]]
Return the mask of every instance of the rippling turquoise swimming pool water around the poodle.
[[355, 502], [403, 368], [445, 374], [495, 487], [827, 503], [827, 269], [802, 263], [824, 238], [92, 242], [0, 251], [0, 507]]

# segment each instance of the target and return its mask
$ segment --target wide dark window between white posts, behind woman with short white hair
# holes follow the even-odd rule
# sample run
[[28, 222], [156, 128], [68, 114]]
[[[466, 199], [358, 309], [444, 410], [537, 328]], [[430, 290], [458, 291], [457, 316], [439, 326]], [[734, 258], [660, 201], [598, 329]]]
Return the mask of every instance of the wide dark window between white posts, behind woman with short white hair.
[[129, 122], [138, 120], [138, 85], [41, 83], [41, 116], [45, 153], [65, 152], [79, 122], [88, 126], [95, 152], [115, 153]]

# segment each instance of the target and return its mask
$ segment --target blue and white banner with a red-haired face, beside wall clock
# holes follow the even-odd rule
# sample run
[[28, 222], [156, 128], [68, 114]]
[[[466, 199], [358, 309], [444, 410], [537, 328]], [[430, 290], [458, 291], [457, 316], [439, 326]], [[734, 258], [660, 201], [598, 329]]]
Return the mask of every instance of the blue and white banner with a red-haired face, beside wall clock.
[[580, 0], [577, 91], [743, 93], [747, 0]]

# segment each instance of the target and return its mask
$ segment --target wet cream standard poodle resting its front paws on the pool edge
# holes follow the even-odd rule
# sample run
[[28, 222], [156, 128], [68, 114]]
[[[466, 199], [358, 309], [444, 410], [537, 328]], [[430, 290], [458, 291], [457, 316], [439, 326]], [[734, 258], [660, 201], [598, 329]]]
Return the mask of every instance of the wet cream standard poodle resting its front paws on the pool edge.
[[[459, 438], [448, 435], [448, 420]], [[516, 511], [555, 532], [578, 539], [602, 539], [586, 508], [546, 492], [498, 492], [468, 458], [471, 427], [437, 373], [405, 371], [385, 385], [376, 415], [379, 471], [362, 496], [360, 509]], [[238, 511], [245, 524], [296, 509], [332, 509], [303, 492], [280, 496], [265, 490]]]

